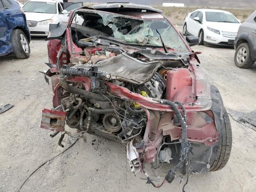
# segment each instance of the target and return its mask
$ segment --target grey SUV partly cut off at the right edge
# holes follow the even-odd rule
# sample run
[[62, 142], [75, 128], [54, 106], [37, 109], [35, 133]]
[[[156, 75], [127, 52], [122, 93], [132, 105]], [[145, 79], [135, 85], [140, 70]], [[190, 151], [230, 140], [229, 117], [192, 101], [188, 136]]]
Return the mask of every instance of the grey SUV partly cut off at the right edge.
[[250, 68], [256, 61], [256, 11], [240, 25], [234, 48], [236, 66]]

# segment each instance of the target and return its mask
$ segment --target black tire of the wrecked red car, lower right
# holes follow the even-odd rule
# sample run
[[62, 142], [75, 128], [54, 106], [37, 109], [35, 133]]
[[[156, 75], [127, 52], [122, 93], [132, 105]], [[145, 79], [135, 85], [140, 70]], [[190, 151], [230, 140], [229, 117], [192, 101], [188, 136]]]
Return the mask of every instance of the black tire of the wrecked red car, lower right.
[[232, 129], [230, 120], [228, 117], [228, 112], [224, 108], [223, 112], [223, 118], [225, 126], [222, 127], [221, 130], [221, 146], [218, 149], [217, 156], [214, 160], [214, 162], [211, 165], [210, 171], [218, 171], [224, 168], [224, 166], [227, 164], [228, 159], [230, 157], [231, 148], [232, 148]]

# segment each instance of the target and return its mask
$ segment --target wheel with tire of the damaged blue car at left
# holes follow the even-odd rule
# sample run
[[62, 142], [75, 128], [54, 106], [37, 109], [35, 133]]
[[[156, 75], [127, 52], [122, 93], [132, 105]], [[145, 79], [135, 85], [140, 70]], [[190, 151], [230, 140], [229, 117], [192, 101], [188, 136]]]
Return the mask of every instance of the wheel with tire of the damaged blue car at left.
[[12, 30], [13, 52], [18, 59], [26, 59], [30, 55], [30, 46], [24, 32], [20, 29]]

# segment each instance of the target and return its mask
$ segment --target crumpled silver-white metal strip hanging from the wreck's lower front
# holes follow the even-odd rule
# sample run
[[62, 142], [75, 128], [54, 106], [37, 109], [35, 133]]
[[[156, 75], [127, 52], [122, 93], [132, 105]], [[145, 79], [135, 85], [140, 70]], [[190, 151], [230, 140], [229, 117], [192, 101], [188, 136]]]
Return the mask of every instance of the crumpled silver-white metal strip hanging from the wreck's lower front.
[[140, 172], [140, 163], [138, 160], [138, 152], [136, 148], [133, 146], [133, 141], [129, 142], [127, 144], [127, 158], [130, 165], [130, 168], [132, 169], [132, 172], [134, 174]]

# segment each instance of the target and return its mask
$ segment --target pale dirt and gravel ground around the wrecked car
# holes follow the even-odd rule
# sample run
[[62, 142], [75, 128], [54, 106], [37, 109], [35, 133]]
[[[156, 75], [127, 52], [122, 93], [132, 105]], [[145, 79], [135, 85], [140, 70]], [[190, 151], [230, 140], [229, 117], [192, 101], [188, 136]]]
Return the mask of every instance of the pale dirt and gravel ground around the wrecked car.
[[[0, 104], [14, 104], [0, 114], [0, 192], [15, 192], [24, 179], [42, 162], [70, 146], [75, 139], [58, 137], [39, 128], [43, 108], [51, 108], [52, 90], [38, 71], [46, 70], [47, 47], [43, 38], [32, 38], [31, 56], [17, 60], [0, 58]], [[240, 69], [234, 65], [234, 50], [194, 46], [210, 82], [216, 85], [227, 109], [255, 110], [256, 65]], [[225, 168], [205, 175], [190, 176], [186, 192], [256, 191], [256, 132], [231, 120], [233, 147]], [[73, 130], [74, 132], [74, 130]], [[148, 174], [162, 181], [167, 172], [147, 168]], [[254, 178], [254, 179], [253, 179]], [[22, 192], [180, 192], [175, 179], [161, 188], [146, 185], [145, 176], [130, 172], [125, 145], [87, 135], [68, 151], [40, 168], [23, 186]], [[251, 180], [252, 179], [252, 180]]]

